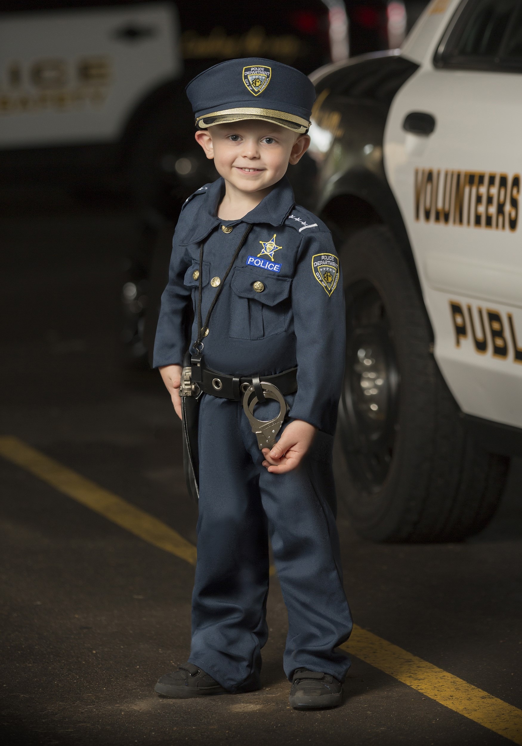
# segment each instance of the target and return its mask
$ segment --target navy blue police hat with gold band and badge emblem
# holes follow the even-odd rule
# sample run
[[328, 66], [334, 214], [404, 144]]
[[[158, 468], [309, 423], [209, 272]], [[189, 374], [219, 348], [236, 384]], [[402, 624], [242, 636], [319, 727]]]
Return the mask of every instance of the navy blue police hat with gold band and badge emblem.
[[201, 129], [265, 119], [302, 134], [310, 126], [315, 101], [315, 88], [306, 75], [260, 57], [214, 65], [193, 78], [185, 90]]

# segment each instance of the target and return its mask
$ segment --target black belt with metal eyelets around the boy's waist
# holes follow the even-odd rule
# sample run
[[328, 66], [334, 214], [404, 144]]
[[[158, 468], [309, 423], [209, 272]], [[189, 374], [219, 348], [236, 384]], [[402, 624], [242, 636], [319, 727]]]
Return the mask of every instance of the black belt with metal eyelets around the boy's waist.
[[[222, 399], [233, 399], [240, 401], [248, 386], [254, 386], [257, 392], [258, 400], [264, 397], [260, 386], [260, 380], [265, 383], [272, 383], [280, 390], [283, 396], [293, 394], [298, 390], [297, 368], [290, 368], [282, 373], [275, 375], [255, 375], [255, 376], [233, 376], [226, 373], [218, 373], [210, 368], [201, 366], [201, 374], [194, 376], [195, 370], [192, 368], [192, 381], [197, 383], [201, 391], [205, 394], [218, 396]], [[198, 371], [199, 373], [199, 371]], [[198, 380], [201, 378], [201, 380]], [[259, 389], [257, 388], [259, 386]]]

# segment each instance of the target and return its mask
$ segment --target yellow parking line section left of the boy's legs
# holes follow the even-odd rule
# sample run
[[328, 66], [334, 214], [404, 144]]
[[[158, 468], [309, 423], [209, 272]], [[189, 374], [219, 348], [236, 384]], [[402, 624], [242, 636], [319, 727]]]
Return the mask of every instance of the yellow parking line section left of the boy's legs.
[[72, 469], [62, 466], [54, 459], [44, 456], [18, 438], [0, 437], [0, 455], [31, 471], [31, 474], [55, 487], [64, 495], [104, 515], [113, 523], [145, 539], [155, 547], [165, 549], [191, 565], [196, 562], [196, 548], [177, 531], [154, 515], [139, 510], [118, 495], [113, 495], [91, 480], [81, 477]]

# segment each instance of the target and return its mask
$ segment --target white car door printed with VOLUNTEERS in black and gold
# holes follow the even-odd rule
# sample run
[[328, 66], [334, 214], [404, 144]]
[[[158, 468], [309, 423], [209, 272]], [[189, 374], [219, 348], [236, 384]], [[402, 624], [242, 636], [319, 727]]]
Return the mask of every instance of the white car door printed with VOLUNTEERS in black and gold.
[[386, 174], [453, 395], [522, 427], [522, 0], [449, 10], [392, 104]]

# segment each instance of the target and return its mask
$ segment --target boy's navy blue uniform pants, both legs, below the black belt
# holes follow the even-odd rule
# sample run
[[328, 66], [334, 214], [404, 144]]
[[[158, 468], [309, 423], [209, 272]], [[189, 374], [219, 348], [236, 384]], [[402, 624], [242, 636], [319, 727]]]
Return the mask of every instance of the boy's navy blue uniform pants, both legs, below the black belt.
[[[256, 416], [271, 419], [278, 411], [277, 402], [267, 401]], [[330, 507], [331, 436], [318, 433], [299, 468], [270, 474], [242, 404], [203, 395], [199, 417], [189, 661], [229, 692], [259, 689], [261, 648], [268, 639], [269, 536], [288, 610], [286, 676], [309, 668], [343, 681], [350, 661], [335, 648], [348, 639], [352, 621]]]

